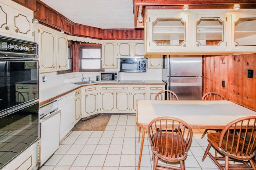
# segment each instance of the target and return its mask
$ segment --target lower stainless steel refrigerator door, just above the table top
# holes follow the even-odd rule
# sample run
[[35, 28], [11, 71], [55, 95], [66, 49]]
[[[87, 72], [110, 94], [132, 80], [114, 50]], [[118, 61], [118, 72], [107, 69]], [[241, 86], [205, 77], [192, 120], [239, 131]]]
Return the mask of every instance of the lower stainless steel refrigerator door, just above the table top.
[[179, 100], [202, 100], [202, 77], [170, 77], [170, 86]]

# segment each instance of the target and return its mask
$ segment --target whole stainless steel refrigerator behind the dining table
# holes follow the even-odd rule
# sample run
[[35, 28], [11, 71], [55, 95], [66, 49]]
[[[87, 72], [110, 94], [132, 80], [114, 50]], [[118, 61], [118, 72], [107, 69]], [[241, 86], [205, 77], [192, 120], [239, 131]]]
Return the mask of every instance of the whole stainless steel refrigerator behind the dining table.
[[163, 56], [162, 80], [179, 100], [202, 99], [202, 56]]

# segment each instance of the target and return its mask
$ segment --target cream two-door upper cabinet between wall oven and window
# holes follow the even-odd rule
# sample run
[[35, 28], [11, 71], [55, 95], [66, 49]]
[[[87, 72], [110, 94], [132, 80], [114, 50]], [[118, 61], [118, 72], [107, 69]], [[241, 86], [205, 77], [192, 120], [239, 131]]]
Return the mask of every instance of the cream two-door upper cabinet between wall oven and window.
[[[35, 24], [36, 25], [36, 24]], [[67, 35], [44, 25], [35, 26], [35, 41], [39, 44], [40, 73], [68, 69]]]

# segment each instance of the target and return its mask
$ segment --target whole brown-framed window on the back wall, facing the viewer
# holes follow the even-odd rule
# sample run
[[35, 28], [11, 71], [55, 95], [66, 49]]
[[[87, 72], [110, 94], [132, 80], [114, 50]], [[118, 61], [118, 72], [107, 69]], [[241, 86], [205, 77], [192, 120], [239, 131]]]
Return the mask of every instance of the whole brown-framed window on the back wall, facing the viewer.
[[79, 46], [79, 72], [102, 71], [102, 46]]

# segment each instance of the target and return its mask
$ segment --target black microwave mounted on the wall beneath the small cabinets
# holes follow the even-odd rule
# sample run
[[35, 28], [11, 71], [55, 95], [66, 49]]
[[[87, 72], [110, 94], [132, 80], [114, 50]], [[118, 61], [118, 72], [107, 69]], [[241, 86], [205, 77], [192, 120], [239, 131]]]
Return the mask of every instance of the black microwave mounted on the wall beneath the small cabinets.
[[120, 72], [146, 72], [147, 61], [144, 58], [120, 59]]

